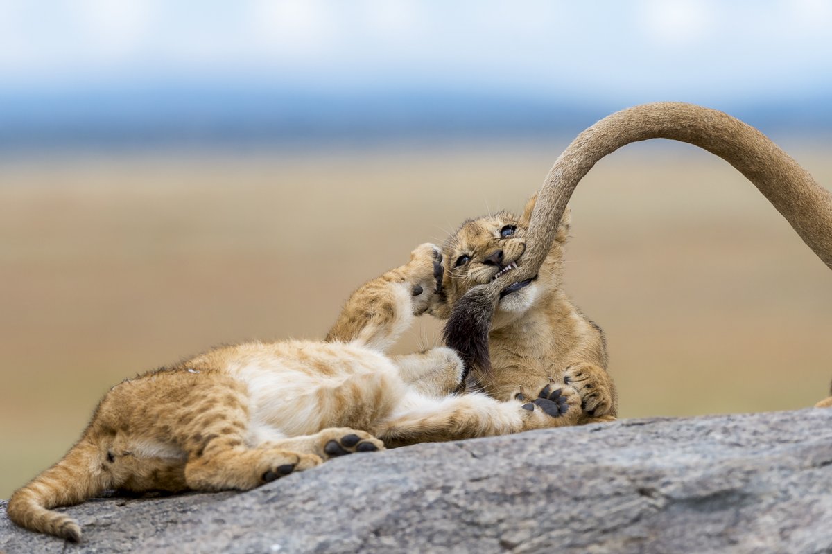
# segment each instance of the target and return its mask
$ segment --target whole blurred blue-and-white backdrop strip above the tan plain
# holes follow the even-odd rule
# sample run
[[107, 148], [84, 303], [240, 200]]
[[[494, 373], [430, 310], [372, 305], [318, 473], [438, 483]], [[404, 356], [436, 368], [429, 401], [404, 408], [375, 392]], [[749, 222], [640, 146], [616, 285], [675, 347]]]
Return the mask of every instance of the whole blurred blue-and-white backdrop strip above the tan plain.
[[824, 0], [0, 2], [0, 154], [571, 136], [650, 101], [832, 130]]

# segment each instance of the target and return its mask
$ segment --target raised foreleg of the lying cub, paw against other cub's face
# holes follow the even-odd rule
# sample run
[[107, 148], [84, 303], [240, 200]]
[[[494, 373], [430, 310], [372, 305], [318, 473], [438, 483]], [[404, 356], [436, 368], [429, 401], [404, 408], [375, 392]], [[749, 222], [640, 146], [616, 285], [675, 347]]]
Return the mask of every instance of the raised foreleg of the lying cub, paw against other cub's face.
[[442, 283], [442, 254], [425, 243], [410, 252], [410, 262], [364, 284], [349, 297], [327, 342], [358, 342], [384, 352], [428, 309]]

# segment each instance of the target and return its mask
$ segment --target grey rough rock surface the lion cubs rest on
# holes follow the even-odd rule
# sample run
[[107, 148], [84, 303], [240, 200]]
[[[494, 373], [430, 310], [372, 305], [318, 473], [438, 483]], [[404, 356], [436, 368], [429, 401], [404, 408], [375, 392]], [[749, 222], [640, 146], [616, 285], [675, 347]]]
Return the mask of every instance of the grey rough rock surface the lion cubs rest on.
[[832, 409], [634, 419], [337, 458], [248, 493], [0, 510], [0, 552], [832, 552]]

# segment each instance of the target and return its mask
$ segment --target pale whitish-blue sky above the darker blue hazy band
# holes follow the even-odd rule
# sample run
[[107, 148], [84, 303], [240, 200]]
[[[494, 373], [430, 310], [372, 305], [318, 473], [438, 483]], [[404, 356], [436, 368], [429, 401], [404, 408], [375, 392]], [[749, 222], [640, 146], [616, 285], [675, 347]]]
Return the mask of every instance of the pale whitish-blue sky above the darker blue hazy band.
[[204, 81], [701, 103], [832, 91], [832, 0], [0, 0], [10, 90]]

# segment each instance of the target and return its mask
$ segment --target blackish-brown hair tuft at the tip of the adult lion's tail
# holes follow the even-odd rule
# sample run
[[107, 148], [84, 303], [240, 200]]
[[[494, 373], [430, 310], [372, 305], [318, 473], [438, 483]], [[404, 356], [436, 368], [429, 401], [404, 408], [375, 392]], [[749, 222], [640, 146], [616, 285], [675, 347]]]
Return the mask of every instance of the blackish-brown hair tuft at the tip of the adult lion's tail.
[[488, 331], [491, 330], [491, 318], [497, 300], [492, 287], [473, 287], [453, 305], [451, 316], [445, 324], [445, 346], [457, 351], [465, 364], [461, 388], [464, 388], [465, 378], [473, 368], [483, 372], [491, 370]]

